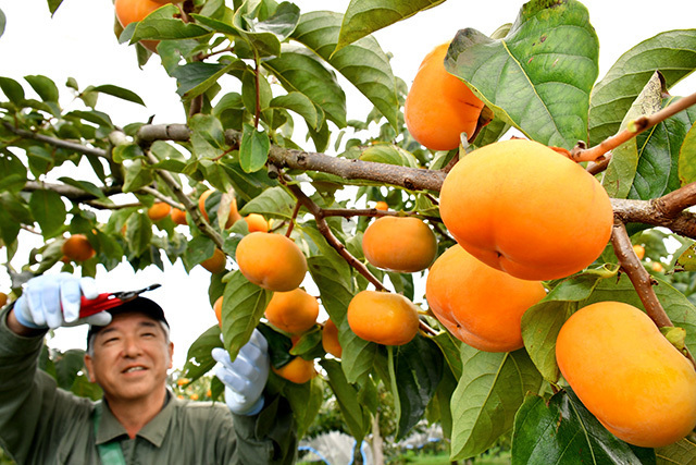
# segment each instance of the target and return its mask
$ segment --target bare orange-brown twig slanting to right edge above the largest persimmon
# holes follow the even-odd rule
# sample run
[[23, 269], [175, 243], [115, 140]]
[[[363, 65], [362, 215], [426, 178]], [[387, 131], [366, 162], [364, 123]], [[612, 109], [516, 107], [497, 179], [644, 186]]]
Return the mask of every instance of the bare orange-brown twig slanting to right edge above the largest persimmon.
[[570, 158], [575, 161], [595, 161], [606, 152], [613, 150], [621, 144], [637, 136], [645, 130], [652, 127], [654, 125], [667, 120], [670, 117], [673, 117], [674, 114], [687, 109], [694, 103], [696, 103], [696, 93], [668, 105], [656, 113], [647, 117], [639, 117], [634, 121], [631, 121], [629, 123], [629, 127], [611, 137], [606, 138], [599, 145], [587, 149], [580, 146], [574, 147], [570, 151]]

